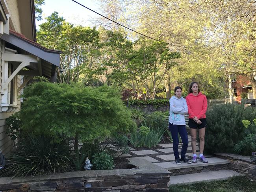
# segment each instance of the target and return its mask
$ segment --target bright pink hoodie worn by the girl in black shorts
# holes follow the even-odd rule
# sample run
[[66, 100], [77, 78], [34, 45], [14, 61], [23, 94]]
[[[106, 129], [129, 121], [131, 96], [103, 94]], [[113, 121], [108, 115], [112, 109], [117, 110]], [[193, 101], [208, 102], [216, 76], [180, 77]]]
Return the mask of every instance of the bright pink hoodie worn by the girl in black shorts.
[[194, 116], [198, 119], [206, 118], [207, 99], [205, 95], [201, 92], [199, 92], [197, 96], [193, 95], [193, 93], [189, 93], [186, 96], [186, 101], [189, 114], [188, 118], [193, 119]]

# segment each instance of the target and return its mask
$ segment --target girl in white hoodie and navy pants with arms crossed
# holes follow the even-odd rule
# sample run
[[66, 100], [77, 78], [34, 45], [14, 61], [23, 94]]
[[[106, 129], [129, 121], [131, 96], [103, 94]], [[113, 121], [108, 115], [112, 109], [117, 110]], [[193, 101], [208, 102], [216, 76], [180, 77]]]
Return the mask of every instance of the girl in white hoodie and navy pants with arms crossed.
[[[181, 164], [181, 162], [191, 163], [186, 158], [186, 152], [188, 147], [188, 138], [186, 130], [186, 122], [184, 114], [187, 114], [187, 102], [182, 97], [182, 88], [175, 87], [174, 89], [175, 96], [172, 96], [170, 99], [170, 116], [169, 116], [169, 130], [173, 137], [173, 152], [175, 156], [175, 163]], [[179, 137], [182, 139], [182, 150], [181, 150], [181, 159], [178, 152]]]

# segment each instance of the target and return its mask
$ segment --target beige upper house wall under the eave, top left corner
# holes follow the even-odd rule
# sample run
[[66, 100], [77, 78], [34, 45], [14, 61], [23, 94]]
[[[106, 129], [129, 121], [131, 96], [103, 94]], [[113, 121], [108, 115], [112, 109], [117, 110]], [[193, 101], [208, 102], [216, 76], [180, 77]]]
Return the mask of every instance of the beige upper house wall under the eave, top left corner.
[[12, 30], [17, 30], [18, 33], [21, 33], [18, 0], [6, 0], [6, 2], [11, 13], [11, 20], [15, 26], [15, 29]]

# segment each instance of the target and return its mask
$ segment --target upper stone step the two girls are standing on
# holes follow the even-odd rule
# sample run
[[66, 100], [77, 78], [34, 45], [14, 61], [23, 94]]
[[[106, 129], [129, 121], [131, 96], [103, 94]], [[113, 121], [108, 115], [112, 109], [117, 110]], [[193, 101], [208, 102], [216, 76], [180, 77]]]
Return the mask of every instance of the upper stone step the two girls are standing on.
[[201, 161], [197, 161], [197, 163], [182, 163], [176, 164], [175, 161], [168, 161], [168, 162], [159, 162], [155, 163], [156, 165], [165, 168], [167, 170], [176, 170], [176, 169], [183, 169], [183, 168], [193, 168], [193, 167], [202, 167], [202, 166], [210, 166], [210, 165], [220, 165], [220, 164], [229, 164], [230, 162], [225, 159], [221, 159], [218, 157], [207, 158], [208, 163], [203, 163]]

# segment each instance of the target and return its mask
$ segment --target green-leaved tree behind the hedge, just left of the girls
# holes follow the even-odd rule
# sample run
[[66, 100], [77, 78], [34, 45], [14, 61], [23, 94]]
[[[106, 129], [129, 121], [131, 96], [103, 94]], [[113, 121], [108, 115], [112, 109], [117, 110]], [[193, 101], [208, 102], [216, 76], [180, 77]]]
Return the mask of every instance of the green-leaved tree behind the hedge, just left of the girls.
[[169, 52], [166, 44], [144, 39], [139, 39], [126, 56], [128, 62], [115, 68], [111, 78], [124, 82], [124, 85], [150, 99], [155, 98], [165, 75], [181, 57], [179, 53]]

